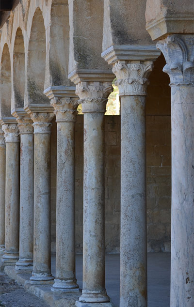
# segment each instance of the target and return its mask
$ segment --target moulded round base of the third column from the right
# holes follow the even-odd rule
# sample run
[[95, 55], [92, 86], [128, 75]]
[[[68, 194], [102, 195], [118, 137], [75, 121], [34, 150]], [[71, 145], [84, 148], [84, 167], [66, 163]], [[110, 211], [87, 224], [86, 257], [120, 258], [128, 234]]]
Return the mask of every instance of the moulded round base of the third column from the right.
[[89, 291], [82, 290], [82, 295], [79, 298], [81, 303], [109, 303], [110, 297], [106, 294], [106, 290]]

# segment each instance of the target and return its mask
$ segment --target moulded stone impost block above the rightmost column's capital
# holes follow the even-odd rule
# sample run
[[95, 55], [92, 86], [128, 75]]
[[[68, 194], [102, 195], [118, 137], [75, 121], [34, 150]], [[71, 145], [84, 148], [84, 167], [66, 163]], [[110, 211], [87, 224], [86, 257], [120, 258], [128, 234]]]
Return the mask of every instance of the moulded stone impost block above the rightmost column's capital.
[[166, 15], [146, 23], [146, 30], [152, 40], [161, 40], [170, 34], [194, 33], [194, 15]]

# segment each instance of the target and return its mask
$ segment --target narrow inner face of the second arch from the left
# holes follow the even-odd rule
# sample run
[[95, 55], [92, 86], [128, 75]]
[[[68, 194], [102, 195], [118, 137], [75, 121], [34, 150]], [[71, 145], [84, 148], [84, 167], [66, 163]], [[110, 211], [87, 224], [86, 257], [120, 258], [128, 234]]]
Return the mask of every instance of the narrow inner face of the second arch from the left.
[[13, 90], [14, 107], [24, 107], [24, 83], [25, 83], [25, 50], [24, 38], [21, 28], [18, 27], [15, 36], [13, 52]]

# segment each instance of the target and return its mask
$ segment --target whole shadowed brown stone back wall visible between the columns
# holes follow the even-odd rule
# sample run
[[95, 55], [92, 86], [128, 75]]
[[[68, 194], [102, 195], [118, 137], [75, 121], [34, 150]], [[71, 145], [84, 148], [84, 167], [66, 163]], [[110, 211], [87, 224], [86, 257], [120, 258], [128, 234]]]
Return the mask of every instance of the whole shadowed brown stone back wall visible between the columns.
[[[171, 117], [163, 56], [155, 62], [146, 99], [147, 249], [170, 251]], [[51, 246], [56, 236], [56, 123], [51, 134]], [[120, 251], [120, 116], [105, 116], [106, 252]], [[76, 251], [82, 252], [83, 115], [76, 123]]]

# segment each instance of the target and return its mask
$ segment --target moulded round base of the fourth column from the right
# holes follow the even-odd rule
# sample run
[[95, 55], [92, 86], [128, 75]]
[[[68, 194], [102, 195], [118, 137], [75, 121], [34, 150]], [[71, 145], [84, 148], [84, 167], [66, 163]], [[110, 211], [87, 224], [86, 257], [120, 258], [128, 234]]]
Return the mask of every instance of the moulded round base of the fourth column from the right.
[[54, 279], [54, 284], [50, 288], [52, 292], [80, 292], [75, 280]]

